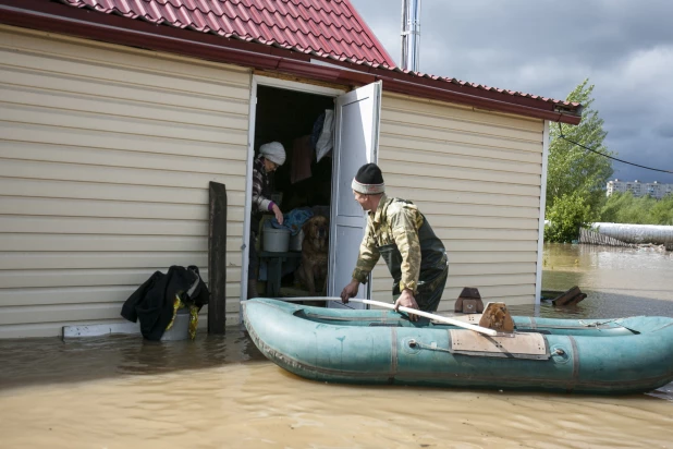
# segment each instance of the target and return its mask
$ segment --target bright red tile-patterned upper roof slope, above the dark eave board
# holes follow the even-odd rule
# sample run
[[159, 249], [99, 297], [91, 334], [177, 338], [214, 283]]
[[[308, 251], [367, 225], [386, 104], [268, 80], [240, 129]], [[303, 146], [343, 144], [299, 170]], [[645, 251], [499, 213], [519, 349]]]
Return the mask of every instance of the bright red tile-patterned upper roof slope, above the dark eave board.
[[356, 63], [394, 65], [348, 0], [61, 0], [155, 24]]

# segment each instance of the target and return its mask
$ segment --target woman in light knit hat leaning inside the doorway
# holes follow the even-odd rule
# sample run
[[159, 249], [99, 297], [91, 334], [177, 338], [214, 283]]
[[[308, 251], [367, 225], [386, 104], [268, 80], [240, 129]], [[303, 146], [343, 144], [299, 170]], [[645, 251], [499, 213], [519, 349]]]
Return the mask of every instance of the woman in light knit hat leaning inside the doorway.
[[247, 279], [247, 299], [257, 298], [257, 268], [259, 257], [255, 241], [259, 233], [261, 215], [272, 211], [280, 225], [283, 223], [283, 213], [271, 197], [270, 174], [285, 162], [285, 148], [279, 142], [271, 142], [259, 147], [259, 155], [253, 163], [253, 211], [250, 219], [249, 264]]

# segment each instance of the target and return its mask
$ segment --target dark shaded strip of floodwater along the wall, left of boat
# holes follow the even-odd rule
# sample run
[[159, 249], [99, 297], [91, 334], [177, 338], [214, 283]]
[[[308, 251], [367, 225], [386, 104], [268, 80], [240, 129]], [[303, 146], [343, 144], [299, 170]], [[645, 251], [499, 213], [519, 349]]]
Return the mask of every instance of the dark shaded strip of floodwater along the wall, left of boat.
[[160, 375], [267, 361], [242, 328], [195, 341], [155, 342], [138, 336], [0, 340], [0, 389], [125, 375]]

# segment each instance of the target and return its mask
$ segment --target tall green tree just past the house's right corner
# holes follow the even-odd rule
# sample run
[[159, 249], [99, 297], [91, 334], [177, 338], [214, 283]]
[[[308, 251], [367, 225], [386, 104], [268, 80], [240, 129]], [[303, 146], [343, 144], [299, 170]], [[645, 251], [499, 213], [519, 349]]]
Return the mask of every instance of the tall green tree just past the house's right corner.
[[[605, 202], [604, 187], [612, 175], [611, 160], [572, 144], [563, 138], [582, 144], [601, 154], [611, 155], [603, 145], [608, 134], [603, 130], [603, 120], [591, 106], [594, 85], [589, 80], [582, 82], [567, 96], [567, 101], [584, 106], [582, 122], [576, 125], [552, 123], [550, 126], [549, 161], [547, 169], [547, 206], [544, 216], [551, 221], [551, 227], [562, 229], [546, 232], [546, 240], [554, 242], [572, 241], [577, 238], [579, 227], [598, 220], [601, 206]], [[562, 204], [556, 204], [562, 202]], [[576, 207], [577, 209], [571, 209]], [[573, 217], [562, 218], [561, 214]], [[555, 220], [553, 218], [555, 218]], [[570, 231], [574, 229], [574, 231]]]

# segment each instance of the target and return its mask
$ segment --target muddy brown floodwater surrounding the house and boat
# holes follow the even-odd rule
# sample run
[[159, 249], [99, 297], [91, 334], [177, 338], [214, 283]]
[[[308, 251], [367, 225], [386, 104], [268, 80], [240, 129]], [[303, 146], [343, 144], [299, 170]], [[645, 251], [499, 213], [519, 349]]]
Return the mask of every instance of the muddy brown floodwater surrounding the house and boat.
[[[546, 290], [589, 296], [516, 314], [673, 316], [672, 253], [548, 245], [544, 265]], [[0, 448], [442, 447], [673, 448], [673, 384], [626, 397], [328, 385], [267, 361], [240, 328], [0, 341]]]

